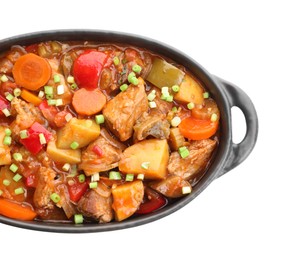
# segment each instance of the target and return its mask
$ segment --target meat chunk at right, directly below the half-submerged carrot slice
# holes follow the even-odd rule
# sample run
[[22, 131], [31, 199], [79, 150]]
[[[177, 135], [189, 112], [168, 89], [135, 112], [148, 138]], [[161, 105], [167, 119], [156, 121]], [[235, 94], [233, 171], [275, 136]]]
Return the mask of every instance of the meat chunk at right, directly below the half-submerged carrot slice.
[[184, 159], [178, 152], [173, 152], [168, 163], [169, 174], [191, 180], [193, 176], [205, 169], [215, 147], [215, 140], [205, 139], [193, 141], [188, 147], [189, 156]]

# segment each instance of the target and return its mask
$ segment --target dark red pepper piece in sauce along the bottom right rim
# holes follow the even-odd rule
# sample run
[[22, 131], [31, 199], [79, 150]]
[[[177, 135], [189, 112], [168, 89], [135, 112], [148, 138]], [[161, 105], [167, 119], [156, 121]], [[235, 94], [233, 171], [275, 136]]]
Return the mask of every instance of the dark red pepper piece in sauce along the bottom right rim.
[[145, 189], [145, 195], [147, 199], [140, 205], [137, 214], [148, 214], [164, 207], [168, 202], [165, 197], [150, 188]]

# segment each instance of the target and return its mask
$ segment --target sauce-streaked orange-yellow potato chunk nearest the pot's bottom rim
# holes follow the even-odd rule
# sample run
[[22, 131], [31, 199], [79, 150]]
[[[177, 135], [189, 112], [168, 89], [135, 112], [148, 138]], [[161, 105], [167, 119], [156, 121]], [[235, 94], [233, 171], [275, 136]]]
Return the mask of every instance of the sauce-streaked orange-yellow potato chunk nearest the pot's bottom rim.
[[144, 185], [137, 180], [112, 188], [113, 204], [117, 221], [122, 221], [133, 215], [139, 208], [144, 197]]

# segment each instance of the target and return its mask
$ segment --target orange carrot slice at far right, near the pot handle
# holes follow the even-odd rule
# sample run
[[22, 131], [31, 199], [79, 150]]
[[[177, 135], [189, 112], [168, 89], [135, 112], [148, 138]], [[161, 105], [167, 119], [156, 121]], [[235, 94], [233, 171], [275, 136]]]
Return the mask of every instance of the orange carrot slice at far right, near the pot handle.
[[218, 121], [200, 120], [187, 117], [179, 125], [180, 133], [191, 140], [203, 140], [214, 135], [218, 129]]

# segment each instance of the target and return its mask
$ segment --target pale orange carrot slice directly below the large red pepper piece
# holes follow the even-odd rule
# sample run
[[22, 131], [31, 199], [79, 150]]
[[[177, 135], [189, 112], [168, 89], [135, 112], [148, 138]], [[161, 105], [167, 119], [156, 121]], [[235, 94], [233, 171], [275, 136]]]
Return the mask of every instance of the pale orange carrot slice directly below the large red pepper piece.
[[72, 104], [78, 114], [91, 116], [103, 109], [106, 96], [99, 89], [81, 88], [74, 93]]

